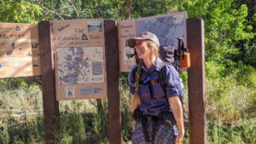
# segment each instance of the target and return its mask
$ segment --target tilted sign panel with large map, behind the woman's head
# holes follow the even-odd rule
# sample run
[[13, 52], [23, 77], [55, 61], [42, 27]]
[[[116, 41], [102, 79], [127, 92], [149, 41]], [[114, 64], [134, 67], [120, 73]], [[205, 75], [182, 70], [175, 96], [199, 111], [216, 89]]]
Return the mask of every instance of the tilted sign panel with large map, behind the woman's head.
[[[186, 15], [187, 12], [163, 14], [137, 20], [119, 21], [119, 71], [129, 72], [136, 65], [134, 49], [129, 49], [125, 41], [132, 35], [141, 32], [153, 32], [160, 40], [160, 46], [174, 46], [177, 48], [177, 37], [182, 37], [186, 43]], [[127, 55], [126, 55], [127, 54]]]

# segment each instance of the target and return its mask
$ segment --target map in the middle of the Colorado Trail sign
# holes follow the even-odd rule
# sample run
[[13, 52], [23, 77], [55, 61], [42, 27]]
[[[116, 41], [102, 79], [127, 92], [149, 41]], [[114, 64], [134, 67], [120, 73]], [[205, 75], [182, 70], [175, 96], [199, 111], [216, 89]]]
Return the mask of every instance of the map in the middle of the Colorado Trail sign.
[[57, 49], [58, 84], [104, 82], [102, 47]]

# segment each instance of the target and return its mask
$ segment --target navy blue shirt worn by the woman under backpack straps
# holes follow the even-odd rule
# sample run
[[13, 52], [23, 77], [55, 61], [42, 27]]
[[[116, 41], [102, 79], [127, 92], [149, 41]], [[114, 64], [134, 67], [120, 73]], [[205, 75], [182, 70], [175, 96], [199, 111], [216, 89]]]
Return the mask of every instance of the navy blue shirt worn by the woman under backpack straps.
[[[141, 73], [140, 82], [143, 83], [147, 78], [154, 80], [156, 84], [140, 84], [138, 94], [140, 95], [139, 109], [144, 115], [158, 116], [161, 112], [170, 111], [169, 101], [167, 98], [179, 95], [178, 87], [180, 84], [179, 74], [172, 64], [166, 64], [166, 94], [160, 84], [160, 69], [163, 66], [163, 61], [157, 58], [155, 65], [151, 66], [147, 72], [145, 66]], [[137, 69], [135, 69], [137, 70]], [[135, 71], [130, 73], [131, 84], [135, 83]], [[151, 88], [150, 88], [151, 87]], [[150, 91], [151, 90], [151, 91]], [[134, 85], [130, 85], [131, 94], [135, 94]]]

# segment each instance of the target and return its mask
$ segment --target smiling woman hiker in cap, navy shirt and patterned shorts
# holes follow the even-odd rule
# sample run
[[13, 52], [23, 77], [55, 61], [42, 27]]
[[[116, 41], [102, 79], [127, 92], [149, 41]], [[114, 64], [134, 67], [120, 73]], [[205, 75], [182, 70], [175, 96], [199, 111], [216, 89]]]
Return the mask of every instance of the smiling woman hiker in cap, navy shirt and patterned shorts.
[[[129, 73], [134, 124], [133, 144], [180, 144], [184, 135], [183, 109], [179, 100], [179, 74], [158, 56], [159, 39], [142, 32], [128, 40], [137, 52], [138, 65]], [[160, 69], [166, 66], [166, 91], [160, 84]], [[173, 115], [171, 114], [173, 113]], [[173, 119], [177, 124], [170, 124]]]

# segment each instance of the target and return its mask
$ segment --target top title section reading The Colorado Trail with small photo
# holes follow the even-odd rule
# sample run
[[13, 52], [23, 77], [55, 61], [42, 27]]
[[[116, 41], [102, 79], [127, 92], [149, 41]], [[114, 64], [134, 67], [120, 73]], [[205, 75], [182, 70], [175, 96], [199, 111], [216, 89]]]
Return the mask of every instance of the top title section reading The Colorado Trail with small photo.
[[103, 20], [53, 21], [54, 48], [103, 46]]

